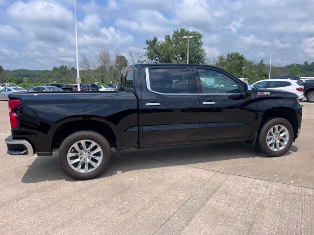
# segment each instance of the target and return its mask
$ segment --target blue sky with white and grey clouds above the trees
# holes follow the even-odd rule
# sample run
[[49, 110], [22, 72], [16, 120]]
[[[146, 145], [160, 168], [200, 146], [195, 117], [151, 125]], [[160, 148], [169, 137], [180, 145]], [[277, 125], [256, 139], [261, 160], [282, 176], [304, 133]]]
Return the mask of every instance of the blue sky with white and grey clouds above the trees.
[[[314, 61], [313, 0], [78, 0], [79, 54], [142, 50], [181, 27], [203, 35], [209, 56], [238, 51], [286, 65]], [[0, 0], [4, 69], [75, 66], [74, 0]], [[128, 58], [130, 61], [130, 58]]]

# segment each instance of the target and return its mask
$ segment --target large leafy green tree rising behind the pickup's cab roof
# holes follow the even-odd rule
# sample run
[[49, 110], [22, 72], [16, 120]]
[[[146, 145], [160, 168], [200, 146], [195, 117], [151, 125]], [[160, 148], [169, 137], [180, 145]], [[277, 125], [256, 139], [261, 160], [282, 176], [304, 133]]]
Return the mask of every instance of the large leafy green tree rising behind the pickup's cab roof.
[[184, 36], [192, 36], [189, 39], [189, 63], [205, 64], [206, 53], [203, 47], [203, 35], [198, 31], [189, 31], [181, 28], [174, 30], [173, 34], [164, 36], [164, 41], [159, 41], [156, 36], [147, 39], [145, 44], [148, 61], [153, 63], [186, 63], [187, 39]]

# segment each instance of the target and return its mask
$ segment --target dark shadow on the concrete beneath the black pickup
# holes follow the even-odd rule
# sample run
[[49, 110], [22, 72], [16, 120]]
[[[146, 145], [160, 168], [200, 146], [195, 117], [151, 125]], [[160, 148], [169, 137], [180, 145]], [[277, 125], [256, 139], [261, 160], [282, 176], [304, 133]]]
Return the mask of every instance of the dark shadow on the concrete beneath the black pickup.
[[[285, 156], [298, 151], [294, 145]], [[118, 158], [112, 153], [111, 164], [98, 178], [104, 178], [117, 174], [140, 169], [169, 167], [186, 164], [211, 164], [220, 167], [231, 158], [267, 158], [259, 154], [256, 149], [245, 142], [219, 143], [219, 144], [194, 144], [150, 149], [123, 150]], [[157, 161], [155, 161], [157, 160]], [[22, 178], [22, 182], [38, 183], [43, 181], [66, 180], [76, 181], [62, 172], [57, 161], [57, 154], [52, 156], [39, 156], [27, 166], [28, 169]]]

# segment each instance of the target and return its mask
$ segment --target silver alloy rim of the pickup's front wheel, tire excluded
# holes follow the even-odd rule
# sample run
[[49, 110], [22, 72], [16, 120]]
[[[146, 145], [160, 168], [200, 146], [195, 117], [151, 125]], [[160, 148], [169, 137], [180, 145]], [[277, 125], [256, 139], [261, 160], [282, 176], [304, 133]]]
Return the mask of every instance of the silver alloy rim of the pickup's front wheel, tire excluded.
[[289, 141], [289, 131], [284, 125], [274, 125], [269, 129], [266, 137], [268, 148], [272, 151], [284, 149]]

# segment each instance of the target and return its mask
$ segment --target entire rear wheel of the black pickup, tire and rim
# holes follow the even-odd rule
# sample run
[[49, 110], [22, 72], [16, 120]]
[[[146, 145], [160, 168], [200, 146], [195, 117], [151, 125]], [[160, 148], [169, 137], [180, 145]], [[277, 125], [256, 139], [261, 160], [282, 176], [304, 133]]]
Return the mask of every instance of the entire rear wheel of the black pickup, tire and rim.
[[94, 131], [78, 131], [60, 145], [58, 162], [68, 176], [77, 180], [93, 179], [101, 175], [110, 163], [108, 141]]

